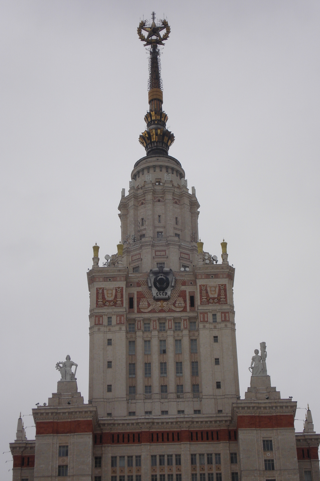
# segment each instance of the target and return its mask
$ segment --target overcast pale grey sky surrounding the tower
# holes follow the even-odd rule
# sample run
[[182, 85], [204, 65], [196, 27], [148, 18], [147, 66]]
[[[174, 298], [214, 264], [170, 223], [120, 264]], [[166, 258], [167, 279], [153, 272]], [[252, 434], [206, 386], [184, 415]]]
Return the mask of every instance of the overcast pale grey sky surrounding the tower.
[[[0, 478], [20, 411], [78, 363], [88, 400], [86, 272], [120, 238], [117, 206], [148, 108], [140, 17], [166, 14], [170, 154], [195, 186], [204, 249], [228, 241], [241, 396], [267, 343], [271, 384], [319, 412], [319, 1], [0, 1]], [[296, 430], [303, 422], [295, 422]]]

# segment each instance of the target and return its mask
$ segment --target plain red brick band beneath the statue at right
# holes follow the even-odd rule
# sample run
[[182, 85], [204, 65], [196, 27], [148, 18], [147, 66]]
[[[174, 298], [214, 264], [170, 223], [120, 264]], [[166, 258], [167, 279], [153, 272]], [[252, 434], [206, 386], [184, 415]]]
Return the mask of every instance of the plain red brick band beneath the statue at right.
[[277, 429], [294, 428], [292, 414], [275, 414], [269, 416], [238, 416], [237, 429]]

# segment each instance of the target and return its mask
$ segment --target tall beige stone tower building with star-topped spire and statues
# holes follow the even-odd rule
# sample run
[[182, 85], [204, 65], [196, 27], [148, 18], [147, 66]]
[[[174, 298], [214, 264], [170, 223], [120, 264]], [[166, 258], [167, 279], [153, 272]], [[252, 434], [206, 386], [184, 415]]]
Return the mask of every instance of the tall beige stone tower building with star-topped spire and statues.
[[117, 253], [101, 266], [93, 246], [89, 403], [67, 356], [57, 392], [33, 409], [35, 441], [18, 421], [14, 481], [320, 481], [311, 412], [296, 434], [296, 403], [271, 386], [264, 342], [240, 399], [227, 242], [221, 262], [204, 251], [195, 188], [168, 155], [159, 45], [169, 33], [154, 14], [138, 27], [150, 49], [146, 155], [121, 193]]

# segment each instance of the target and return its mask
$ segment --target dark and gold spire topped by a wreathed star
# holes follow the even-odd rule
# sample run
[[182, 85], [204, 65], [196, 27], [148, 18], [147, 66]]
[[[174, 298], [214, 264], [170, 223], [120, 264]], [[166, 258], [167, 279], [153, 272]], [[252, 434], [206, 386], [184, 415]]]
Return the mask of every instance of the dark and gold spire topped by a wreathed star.
[[[148, 101], [149, 112], [144, 116], [147, 129], [142, 132], [139, 142], [146, 150], [147, 155], [168, 154], [170, 145], [174, 142], [174, 135], [166, 129], [168, 116], [162, 110], [163, 90], [161, 80], [160, 50], [158, 45], [164, 45], [164, 40], [169, 37], [170, 26], [167, 21], [154, 22], [155, 13], [152, 12], [152, 23], [147, 24], [142, 20], [138, 27], [139, 38], [150, 47]], [[160, 32], [166, 32], [161, 36]], [[145, 37], [142, 31], [147, 32]]]

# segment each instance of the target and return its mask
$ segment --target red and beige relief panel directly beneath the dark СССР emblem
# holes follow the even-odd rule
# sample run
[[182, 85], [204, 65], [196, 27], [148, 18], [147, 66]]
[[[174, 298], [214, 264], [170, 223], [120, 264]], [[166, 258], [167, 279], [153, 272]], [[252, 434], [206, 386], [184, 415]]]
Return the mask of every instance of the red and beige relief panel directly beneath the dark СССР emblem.
[[181, 290], [182, 282], [182, 278], [176, 278], [176, 284], [171, 291], [170, 299], [155, 301], [147, 280], [141, 280], [142, 291], [137, 291], [137, 312], [186, 312], [187, 292]]

